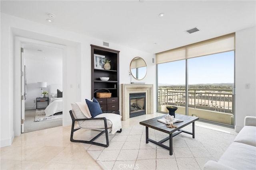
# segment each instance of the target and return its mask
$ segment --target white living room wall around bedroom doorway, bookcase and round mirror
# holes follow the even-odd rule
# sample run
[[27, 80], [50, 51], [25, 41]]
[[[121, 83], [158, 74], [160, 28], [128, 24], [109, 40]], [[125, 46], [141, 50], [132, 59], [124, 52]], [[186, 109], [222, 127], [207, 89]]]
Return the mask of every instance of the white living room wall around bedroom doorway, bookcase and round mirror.
[[[13, 33], [12, 30], [14, 31]], [[66, 45], [63, 56], [64, 126], [71, 125], [71, 119], [68, 113], [71, 109], [70, 103], [84, 101], [85, 98], [91, 98], [91, 82], [88, 81], [91, 80], [90, 44], [103, 47], [102, 44], [104, 41], [7, 14], [1, 14], [1, 94], [4, 93], [4, 96], [0, 96], [1, 147], [11, 145], [14, 132], [15, 136], [20, 135], [20, 105], [18, 104], [20, 101], [19, 83], [15, 84], [15, 88], [13, 86], [15, 80], [14, 73], [18, 73], [17, 68], [15, 70], [13, 64], [13, 60], [16, 56], [14, 57], [15, 54], [12, 52], [14, 48], [14, 37], [16, 35]], [[156, 86], [155, 64], [151, 62], [152, 58], [154, 58], [154, 54], [116, 45], [111, 42], [109, 42], [109, 44], [110, 46], [107, 48], [120, 51], [120, 84], [130, 83], [130, 76], [128, 75], [130, 61], [132, 61], [134, 57], [140, 56], [148, 65], [148, 74], [143, 82]], [[19, 51], [17, 50], [16, 53], [18, 54]], [[3, 74], [2, 70], [4, 70], [5, 74]], [[17, 83], [19, 78], [16, 78], [15, 81]], [[3, 84], [2, 82], [5, 83]], [[13, 92], [15, 92], [15, 95], [13, 95]], [[17, 97], [14, 98], [14, 96]]]

